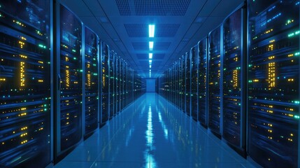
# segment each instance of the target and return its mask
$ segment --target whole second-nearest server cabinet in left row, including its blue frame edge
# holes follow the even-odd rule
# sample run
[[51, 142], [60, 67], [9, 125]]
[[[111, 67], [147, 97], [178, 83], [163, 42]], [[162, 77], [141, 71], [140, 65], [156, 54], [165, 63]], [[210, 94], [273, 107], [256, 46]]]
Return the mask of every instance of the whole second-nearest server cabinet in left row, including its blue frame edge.
[[57, 3], [55, 158], [83, 139], [83, 25]]

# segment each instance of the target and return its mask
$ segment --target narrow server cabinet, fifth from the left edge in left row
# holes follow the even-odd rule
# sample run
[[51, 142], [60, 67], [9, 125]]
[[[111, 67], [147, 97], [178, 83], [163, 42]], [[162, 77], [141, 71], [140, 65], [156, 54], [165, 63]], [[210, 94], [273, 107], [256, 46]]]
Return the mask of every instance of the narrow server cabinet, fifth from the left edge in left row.
[[109, 51], [109, 63], [108, 63], [108, 69], [109, 69], [109, 120], [113, 118], [113, 111], [114, 111], [114, 104], [113, 104], [113, 101], [114, 101], [114, 97], [115, 97], [115, 79], [114, 79], [114, 72], [113, 69], [114, 69], [114, 57], [115, 57], [115, 53], [110, 50]]

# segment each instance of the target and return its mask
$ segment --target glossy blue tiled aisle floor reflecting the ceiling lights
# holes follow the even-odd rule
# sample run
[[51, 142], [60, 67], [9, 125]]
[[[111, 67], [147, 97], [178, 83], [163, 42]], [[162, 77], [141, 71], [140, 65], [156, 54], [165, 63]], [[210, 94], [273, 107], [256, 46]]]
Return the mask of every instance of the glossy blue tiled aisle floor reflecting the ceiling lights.
[[253, 167], [190, 117], [146, 93], [58, 167]]

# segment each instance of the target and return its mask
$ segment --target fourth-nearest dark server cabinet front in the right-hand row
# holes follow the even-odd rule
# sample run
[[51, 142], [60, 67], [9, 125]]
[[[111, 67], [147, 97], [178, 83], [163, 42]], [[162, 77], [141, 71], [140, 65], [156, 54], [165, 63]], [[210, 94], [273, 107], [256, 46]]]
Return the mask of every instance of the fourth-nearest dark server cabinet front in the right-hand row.
[[207, 38], [198, 43], [198, 59], [199, 59], [199, 78], [198, 78], [198, 121], [207, 125]]

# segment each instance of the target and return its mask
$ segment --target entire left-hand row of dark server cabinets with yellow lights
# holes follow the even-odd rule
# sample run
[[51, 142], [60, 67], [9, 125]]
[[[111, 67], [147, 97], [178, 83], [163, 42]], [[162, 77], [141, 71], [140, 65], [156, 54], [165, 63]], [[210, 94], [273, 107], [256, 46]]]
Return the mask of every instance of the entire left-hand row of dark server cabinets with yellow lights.
[[141, 96], [141, 76], [62, 4], [0, 1], [0, 22], [0, 167], [50, 165]]

